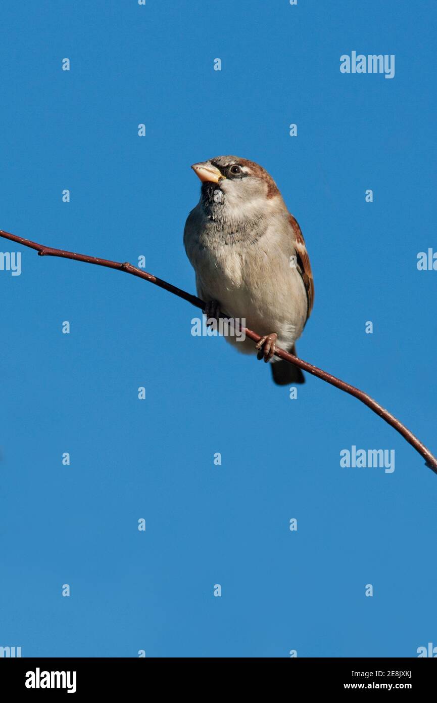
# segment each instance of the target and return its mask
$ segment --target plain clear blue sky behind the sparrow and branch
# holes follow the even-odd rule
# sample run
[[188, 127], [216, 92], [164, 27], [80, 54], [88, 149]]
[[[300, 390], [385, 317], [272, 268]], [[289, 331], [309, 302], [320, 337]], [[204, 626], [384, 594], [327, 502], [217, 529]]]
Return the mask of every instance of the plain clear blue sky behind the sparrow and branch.
[[[437, 272], [416, 266], [437, 250], [436, 14], [407, 0], [3, 4], [0, 228], [143, 255], [195, 292], [190, 165], [261, 163], [313, 266], [299, 354], [436, 453]], [[341, 74], [351, 51], [394, 54], [395, 77]], [[0, 245], [22, 252], [20, 276], [0, 271], [1, 646], [414, 657], [437, 645], [437, 477], [391, 427], [308, 376], [290, 400], [263, 363], [193, 337], [197, 311], [148, 283]], [[352, 445], [394, 449], [395, 471], [340, 467]]]

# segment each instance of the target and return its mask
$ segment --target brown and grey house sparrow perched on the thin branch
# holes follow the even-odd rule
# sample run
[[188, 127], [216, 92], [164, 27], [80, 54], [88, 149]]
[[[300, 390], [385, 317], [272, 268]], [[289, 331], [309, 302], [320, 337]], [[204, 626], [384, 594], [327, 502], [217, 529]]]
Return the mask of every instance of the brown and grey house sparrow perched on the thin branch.
[[279, 385], [303, 383], [301, 369], [273, 356], [275, 345], [296, 354], [313, 307], [314, 286], [299, 224], [272, 177], [258, 164], [218, 156], [191, 167], [202, 181], [183, 242], [209, 318], [244, 318], [262, 336], [226, 337], [240, 352], [270, 361]]

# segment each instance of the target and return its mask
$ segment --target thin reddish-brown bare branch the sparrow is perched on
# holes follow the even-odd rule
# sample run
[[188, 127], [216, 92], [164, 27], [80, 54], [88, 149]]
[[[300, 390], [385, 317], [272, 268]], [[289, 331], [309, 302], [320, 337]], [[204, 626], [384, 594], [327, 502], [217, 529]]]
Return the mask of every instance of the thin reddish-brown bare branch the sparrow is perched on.
[[[32, 242], [29, 239], [18, 237], [15, 234], [10, 234], [8, 232], [4, 232], [3, 230], [0, 230], [0, 237], [9, 239], [25, 247], [30, 247], [31, 249], [37, 250], [39, 256], [41, 257], [61, 257], [63, 259], [73, 259], [74, 261], [84, 262], [86, 264], [96, 264], [96, 266], [106, 266], [108, 269], [117, 269], [118, 271], [131, 273], [132, 276], [144, 278], [145, 280], [148, 280], [149, 283], [154, 283], [155, 285], [158, 285], [159, 288], [164, 288], [164, 290], [168, 290], [170, 293], [173, 293], [174, 295], [183, 298], [184, 300], [193, 304], [195, 307], [200, 308], [201, 310], [204, 310], [205, 308], [204, 301], [200, 298], [197, 298], [195, 295], [190, 295], [190, 293], [185, 292], [185, 290], [176, 288], [175, 285], [167, 283], [167, 281], [162, 280], [162, 278], [157, 278], [156, 276], [153, 276], [152, 273], [147, 273], [146, 271], [141, 271], [141, 269], [136, 269], [135, 266], [132, 266], [128, 262], [121, 264], [119, 262], [113, 262], [108, 259], [89, 257], [86, 256], [86, 254], [75, 254], [74, 252], [66, 252], [61, 249], [45, 247], [42, 244], [37, 244], [36, 242]], [[259, 342], [259, 340], [261, 340], [260, 335], [256, 334], [256, 332], [254, 332], [253, 330], [244, 328], [244, 333], [247, 337], [249, 337], [249, 339], [253, 340], [254, 342]], [[380, 418], [385, 420], [386, 423], [389, 423], [391, 427], [394, 427], [396, 432], [399, 432], [399, 434], [401, 434], [402, 437], [406, 439], [407, 442], [409, 442], [411, 446], [413, 446], [415, 450], [418, 451], [419, 454], [424, 458], [426, 466], [428, 466], [430, 469], [433, 470], [434, 473], [437, 474], [437, 458], [433, 456], [433, 454], [431, 454], [429, 449], [427, 449], [426, 446], [422, 444], [422, 442], [417, 439], [417, 437], [415, 437], [415, 435], [412, 434], [412, 432], [410, 432], [407, 427], [405, 427], [405, 425], [400, 423], [400, 421], [395, 418], [394, 415], [392, 415], [391, 413], [389, 413], [389, 411], [379, 405], [377, 401], [374, 401], [374, 399], [367, 395], [367, 393], [361, 391], [358, 388], [355, 388], [354, 386], [351, 386], [350, 384], [342, 381], [339, 378], [336, 378], [330, 373], [327, 373], [327, 371], [323, 371], [322, 369], [317, 368], [317, 366], [313, 366], [312, 363], [308, 363], [308, 361], [304, 361], [303, 359], [299, 359], [293, 354], [289, 354], [289, 352], [285, 352], [284, 349], [277, 348], [275, 355], [279, 356], [280, 359], [284, 359], [285, 361], [289, 361], [289, 363], [293, 363], [294, 366], [299, 366], [299, 368], [302, 368], [304, 371], [311, 373], [313, 376], [321, 378], [323, 381], [330, 383], [332, 386], [339, 388], [345, 393], [348, 393], [354, 396], [355, 398], [358, 398], [358, 400], [367, 405], [370, 410], [372, 410], [374, 413], [379, 415]]]

